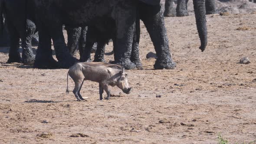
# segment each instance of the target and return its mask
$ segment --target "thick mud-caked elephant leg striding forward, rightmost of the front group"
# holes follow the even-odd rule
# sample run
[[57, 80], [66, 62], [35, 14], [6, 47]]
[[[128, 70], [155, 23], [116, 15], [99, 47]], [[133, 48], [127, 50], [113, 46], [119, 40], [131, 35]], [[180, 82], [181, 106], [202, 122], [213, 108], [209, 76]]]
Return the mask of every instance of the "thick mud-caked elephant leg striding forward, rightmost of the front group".
[[140, 8], [140, 18], [147, 28], [158, 56], [154, 64], [154, 69], [174, 69], [176, 63], [171, 58], [161, 6], [141, 4]]

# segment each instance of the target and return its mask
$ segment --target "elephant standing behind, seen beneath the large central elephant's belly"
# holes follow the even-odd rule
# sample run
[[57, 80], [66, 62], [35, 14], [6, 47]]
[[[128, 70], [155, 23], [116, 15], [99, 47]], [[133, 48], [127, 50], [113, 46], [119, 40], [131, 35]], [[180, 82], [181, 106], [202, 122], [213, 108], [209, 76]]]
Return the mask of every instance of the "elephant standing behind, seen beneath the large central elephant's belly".
[[[137, 36], [139, 36], [138, 33], [140, 32], [139, 19], [138, 20], [136, 19], [135, 25], [136, 26], [135, 26], [134, 36], [133, 36], [130, 60], [136, 65], [137, 68], [142, 68], [141, 60], [139, 58], [138, 40], [137, 40]], [[97, 49], [95, 51], [95, 56], [93, 61], [105, 62], [104, 60], [105, 45], [112, 40], [114, 44], [114, 49], [115, 49], [115, 33], [116, 33], [115, 23], [113, 23], [113, 21], [111, 20], [105, 20], [102, 23], [97, 23], [97, 25], [88, 26], [88, 32], [86, 33], [85, 51], [80, 61], [82, 62], [91, 61], [90, 52], [92, 51], [91, 49], [93, 44], [97, 43]]]

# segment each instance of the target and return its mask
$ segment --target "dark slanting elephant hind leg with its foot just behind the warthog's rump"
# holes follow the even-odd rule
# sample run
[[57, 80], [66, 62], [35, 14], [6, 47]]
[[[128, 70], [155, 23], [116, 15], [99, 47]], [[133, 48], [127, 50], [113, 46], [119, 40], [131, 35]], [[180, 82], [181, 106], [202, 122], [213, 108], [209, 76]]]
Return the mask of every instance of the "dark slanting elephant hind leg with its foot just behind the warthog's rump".
[[62, 24], [52, 26], [49, 30], [51, 31], [53, 46], [59, 66], [61, 68], [69, 68], [78, 60], [69, 53], [62, 32]]

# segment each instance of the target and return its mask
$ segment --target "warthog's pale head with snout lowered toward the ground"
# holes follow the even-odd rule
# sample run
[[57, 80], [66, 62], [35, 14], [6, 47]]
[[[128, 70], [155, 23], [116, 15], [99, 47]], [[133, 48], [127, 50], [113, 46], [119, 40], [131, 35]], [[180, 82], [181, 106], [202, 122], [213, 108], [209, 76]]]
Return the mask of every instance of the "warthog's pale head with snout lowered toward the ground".
[[117, 86], [123, 90], [124, 93], [129, 94], [131, 92], [131, 87], [128, 85], [127, 73], [125, 72], [125, 69], [123, 68], [119, 74], [120, 76], [117, 80]]

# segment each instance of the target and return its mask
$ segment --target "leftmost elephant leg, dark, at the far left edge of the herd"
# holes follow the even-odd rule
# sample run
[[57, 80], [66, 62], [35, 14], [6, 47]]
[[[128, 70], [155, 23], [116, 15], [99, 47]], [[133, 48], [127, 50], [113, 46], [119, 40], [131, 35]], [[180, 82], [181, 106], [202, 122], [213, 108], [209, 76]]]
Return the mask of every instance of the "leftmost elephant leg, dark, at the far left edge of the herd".
[[18, 49], [20, 47], [19, 41], [20, 41], [20, 35], [16, 28], [13, 26], [13, 23], [7, 22], [8, 31], [10, 33], [10, 49], [9, 49], [9, 59], [7, 63], [12, 62], [22, 62], [22, 58], [20, 56], [20, 52], [18, 52]]

